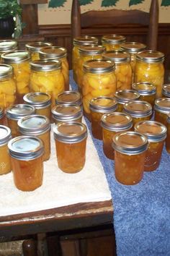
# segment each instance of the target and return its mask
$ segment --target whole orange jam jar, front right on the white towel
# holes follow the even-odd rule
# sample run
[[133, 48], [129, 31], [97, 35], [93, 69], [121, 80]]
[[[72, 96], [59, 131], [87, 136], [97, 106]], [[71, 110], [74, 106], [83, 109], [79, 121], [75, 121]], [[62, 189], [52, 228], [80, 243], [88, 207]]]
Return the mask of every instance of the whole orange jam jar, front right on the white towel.
[[58, 167], [69, 174], [81, 171], [86, 161], [86, 125], [72, 121], [59, 123], [53, 133]]

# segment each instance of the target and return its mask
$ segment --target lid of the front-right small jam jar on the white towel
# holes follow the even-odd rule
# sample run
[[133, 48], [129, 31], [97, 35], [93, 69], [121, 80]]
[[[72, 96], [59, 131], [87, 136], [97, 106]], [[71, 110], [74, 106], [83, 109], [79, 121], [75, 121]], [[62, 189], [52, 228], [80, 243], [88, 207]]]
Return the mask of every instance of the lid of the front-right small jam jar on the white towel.
[[55, 140], [64, 143], [81, 142], [87, 137], [86, 125], [76, 121], [61, 122], [53, 129]]

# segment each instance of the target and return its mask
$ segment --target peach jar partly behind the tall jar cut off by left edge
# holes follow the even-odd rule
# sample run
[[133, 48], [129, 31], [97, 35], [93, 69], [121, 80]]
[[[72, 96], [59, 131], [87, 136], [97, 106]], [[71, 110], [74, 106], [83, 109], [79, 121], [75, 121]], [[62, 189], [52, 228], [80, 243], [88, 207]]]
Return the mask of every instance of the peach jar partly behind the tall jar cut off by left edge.
[[23, 103], [24, 94], [30, 93], [30, 54], [28, 51], [10, 51], [1, 55], [4, 64], [14, 68], [17, 82], [17, 103]]

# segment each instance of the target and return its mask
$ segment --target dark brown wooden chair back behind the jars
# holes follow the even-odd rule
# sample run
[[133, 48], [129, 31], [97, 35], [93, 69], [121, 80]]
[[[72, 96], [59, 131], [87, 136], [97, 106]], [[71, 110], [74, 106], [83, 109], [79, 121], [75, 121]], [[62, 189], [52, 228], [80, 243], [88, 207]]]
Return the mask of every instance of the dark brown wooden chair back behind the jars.
[[[158, 0], [151, 0], [150, 12], [140, 10], [124, 11], [110, 9], [107, 11], [89, 11], [81, 14], [79, 0], [73, 0], [71, 9], [71, 33], [75, 38], [81, 35], [82, 28], [99, 27], [120, 27], [133, 25], [134, 27], [148, 26], [147, 46], [156, 50], [158, 39]], [[112, 30], [114, 33], [114, 28]]]

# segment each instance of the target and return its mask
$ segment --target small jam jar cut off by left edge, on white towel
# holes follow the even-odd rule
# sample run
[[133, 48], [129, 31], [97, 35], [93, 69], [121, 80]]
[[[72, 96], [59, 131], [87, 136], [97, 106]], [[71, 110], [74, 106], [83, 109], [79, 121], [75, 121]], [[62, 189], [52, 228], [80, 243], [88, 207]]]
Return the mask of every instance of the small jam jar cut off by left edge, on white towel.
[[11, 160], [7, 145], [11, 138], [12, 134], [9, 127], [0, 125], [0, 175], [8, 174], [10, 171], [12, 171]]

